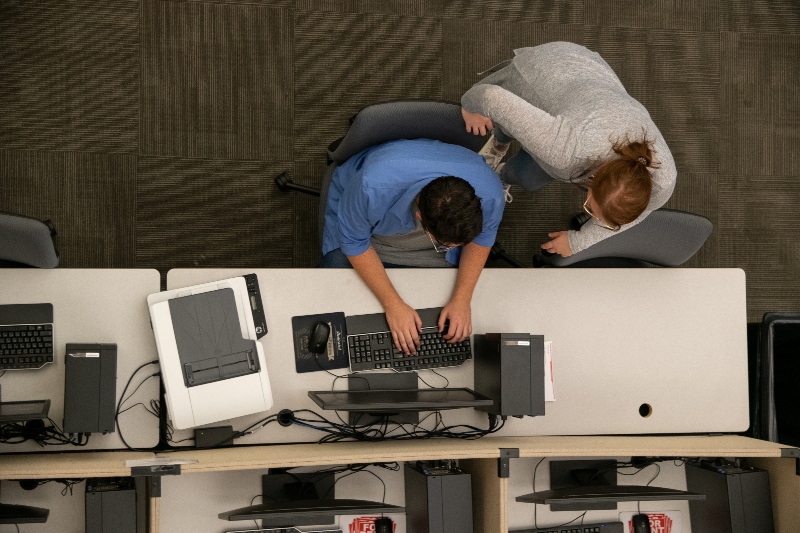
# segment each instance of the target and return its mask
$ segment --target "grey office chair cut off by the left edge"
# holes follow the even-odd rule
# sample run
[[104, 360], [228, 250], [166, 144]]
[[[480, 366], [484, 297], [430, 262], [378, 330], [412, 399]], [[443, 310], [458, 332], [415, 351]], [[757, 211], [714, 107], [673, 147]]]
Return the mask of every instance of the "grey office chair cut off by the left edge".
[[0, 268], [57, 267], [55, 236], [49, 220], [0, 213]]

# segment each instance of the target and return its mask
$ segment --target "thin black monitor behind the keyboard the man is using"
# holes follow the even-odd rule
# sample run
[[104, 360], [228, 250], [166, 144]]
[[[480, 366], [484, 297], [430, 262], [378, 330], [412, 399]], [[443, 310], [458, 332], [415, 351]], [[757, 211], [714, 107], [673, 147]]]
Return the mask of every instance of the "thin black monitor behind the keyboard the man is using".
[[440, 411], [493, 404], [491, 398], [466, 388], [309, 391], [308, 395], [325, 410], [366, 413]]

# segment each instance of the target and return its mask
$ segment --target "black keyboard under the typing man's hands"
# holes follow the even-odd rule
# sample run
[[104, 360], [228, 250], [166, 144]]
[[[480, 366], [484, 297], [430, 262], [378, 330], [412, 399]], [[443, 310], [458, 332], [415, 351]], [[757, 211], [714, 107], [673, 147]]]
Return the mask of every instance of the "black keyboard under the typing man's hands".
[[[347, 320], [347, 349], [350, 370], [396, 370], [405, 372], [426, 368], [458, 366], [472, 359], [469, 339], [448, 343], [439, 333], [437, 322], [441, 307], [418, 309], [422, 320], [420, 347], [416, 354], [404, 354], [392, 342], [386, 315], [349, 316]], [[447, 330], [445, 329], [445, 332]]]

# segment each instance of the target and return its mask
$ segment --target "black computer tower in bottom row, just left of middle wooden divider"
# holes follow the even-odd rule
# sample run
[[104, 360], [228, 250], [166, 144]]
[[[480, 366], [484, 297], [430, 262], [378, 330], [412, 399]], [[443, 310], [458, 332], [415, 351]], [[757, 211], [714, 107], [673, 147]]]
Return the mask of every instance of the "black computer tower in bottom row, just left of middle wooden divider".
[[406, 463], [406, 530], [472, 533], [472, 476], [452, 466]]

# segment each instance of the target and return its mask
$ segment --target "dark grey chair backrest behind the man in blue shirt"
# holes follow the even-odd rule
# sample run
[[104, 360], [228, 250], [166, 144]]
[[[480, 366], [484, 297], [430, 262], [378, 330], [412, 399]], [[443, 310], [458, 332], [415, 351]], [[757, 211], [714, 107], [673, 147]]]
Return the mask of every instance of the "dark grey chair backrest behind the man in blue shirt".
[[370, 146], [398, 139], [434, 139], [474, 152], [486, 142], [482, 136], [467, 132], [459, 104], [399, 100], [370, 105], [359, 111], [345, 136], [328, 148], [328, 157], [341, 165]]

